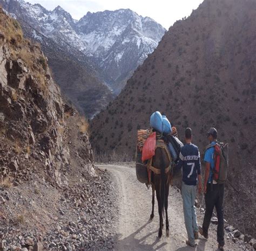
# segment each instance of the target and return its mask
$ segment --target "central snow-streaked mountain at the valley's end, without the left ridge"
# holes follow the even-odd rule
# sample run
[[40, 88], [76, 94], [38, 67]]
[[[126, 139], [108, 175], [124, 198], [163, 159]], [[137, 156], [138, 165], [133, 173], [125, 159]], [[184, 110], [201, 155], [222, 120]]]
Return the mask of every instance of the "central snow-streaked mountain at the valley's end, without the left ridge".
[[[142, 64], [165, 32], [153, 19], [129, 9], [88, 12], [77, 22], [77, 31], [111, 87]], [[123, 86], [118, 91], [113, 88], [114, 92]]]

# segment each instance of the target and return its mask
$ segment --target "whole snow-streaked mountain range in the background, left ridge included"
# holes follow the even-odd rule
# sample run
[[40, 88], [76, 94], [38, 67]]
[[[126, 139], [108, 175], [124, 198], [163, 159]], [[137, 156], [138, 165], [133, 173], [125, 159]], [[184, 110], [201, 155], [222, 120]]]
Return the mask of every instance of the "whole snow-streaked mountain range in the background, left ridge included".
[[70, 54], [75, 48], [84, 58], [89, 57], [116, 94], [165, 33], [153, 19], [129, 9], [88, 12], [77, 21], [60, 6], [48, 11], [40, 4], [24, 0], [0, 0], [0, 4]]

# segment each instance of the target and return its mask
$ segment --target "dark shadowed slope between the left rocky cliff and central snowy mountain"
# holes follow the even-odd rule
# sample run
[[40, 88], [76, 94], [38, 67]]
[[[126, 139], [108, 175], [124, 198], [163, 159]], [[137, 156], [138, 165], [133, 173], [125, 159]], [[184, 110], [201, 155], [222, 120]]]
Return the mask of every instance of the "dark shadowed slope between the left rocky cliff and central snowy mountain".
[[24, 36], [41, 44], [53, 79], [81, 113], [91, 118], [113, 100], [112, 91], [83, 53], [69, 44], [62, 45], [45, 37], [24, 21], [21, 24]]

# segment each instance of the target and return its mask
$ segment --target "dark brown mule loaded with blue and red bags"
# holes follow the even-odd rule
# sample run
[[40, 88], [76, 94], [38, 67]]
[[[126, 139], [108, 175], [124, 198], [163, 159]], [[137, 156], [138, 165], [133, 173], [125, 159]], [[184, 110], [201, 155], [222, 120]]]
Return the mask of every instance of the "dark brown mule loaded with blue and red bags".
[[177, 137], [177, 130], [171, 127], [166, 116], [156, 111], [150, 118], [150, 129], [138, 130], [136, 151], [136, 175], [139, 182], [152, 187], [152, 212], [154, 217], [154, 193], [157, 195], [159, 213], [158, 237], [163, 234], [163, 210], [166, 214], [166, 236], [169, 236], [168, 196], [173, 178], [173, 167], [183, 145]]

